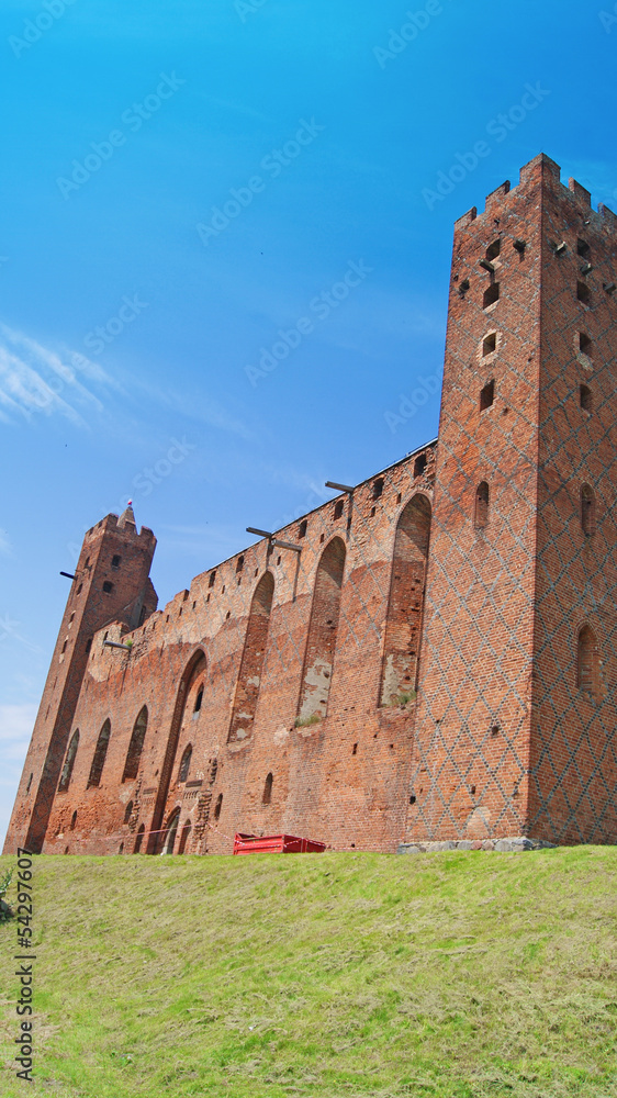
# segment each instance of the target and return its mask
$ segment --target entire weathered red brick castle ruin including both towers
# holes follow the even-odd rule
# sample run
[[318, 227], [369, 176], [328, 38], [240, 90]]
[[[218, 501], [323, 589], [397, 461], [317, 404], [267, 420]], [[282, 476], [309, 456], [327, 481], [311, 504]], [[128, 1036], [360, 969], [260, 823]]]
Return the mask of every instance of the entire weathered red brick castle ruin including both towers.
[[616, 236], [536, 157], [456, 224], [438, 444], [161, 612], [88, 533], [5, 851], [616, 841]]

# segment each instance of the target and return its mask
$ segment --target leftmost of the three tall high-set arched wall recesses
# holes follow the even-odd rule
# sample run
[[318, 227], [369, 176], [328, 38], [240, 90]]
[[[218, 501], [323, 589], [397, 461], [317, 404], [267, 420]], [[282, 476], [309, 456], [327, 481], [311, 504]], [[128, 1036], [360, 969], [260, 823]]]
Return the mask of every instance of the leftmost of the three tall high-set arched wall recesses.
[[273, 595], [274, 578], [271, 572], [266, 572], [257, 584], [250, 604], [229, 725], [228, 742], [231, 743], [245, 740], [253, 732], [266, 660]]

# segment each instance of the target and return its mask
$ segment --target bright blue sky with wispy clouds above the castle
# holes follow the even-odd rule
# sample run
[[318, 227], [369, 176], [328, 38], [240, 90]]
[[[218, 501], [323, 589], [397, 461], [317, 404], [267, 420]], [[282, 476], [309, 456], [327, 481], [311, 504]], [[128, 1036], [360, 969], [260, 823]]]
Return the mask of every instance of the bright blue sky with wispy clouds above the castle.
[[542, 150], [617, 209], [616, 11], [3, 0], [0, 834], [83, 531], [165, 603], [437, 434], [457, 216]]

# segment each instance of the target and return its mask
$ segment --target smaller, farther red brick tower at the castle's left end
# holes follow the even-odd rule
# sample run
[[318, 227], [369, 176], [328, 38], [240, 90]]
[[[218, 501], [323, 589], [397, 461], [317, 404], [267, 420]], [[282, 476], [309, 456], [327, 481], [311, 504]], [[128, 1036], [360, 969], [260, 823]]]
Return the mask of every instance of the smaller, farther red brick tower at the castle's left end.
[[131, 506], [120, 518], [108, 515], [83, 539], [75, 579], [43, 692], [43, 698], [15, 798], [4, 852], [18, 845], [40, 853], [92, 637], [108, 623], [132, 629], [157, 606], [148, 579], [156, 538], [135, 528]]

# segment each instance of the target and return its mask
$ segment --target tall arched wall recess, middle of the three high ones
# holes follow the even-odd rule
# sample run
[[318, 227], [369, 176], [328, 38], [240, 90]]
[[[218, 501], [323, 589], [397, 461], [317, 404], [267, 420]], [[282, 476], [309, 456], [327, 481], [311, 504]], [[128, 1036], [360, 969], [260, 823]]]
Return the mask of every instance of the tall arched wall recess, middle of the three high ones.
[[333, 538], [324, 549], [317, 565], [302, 670], [296, 719], [299, 726], [314, 724], [327, 714], [345, 557], [345, 542], [340, 538]]

